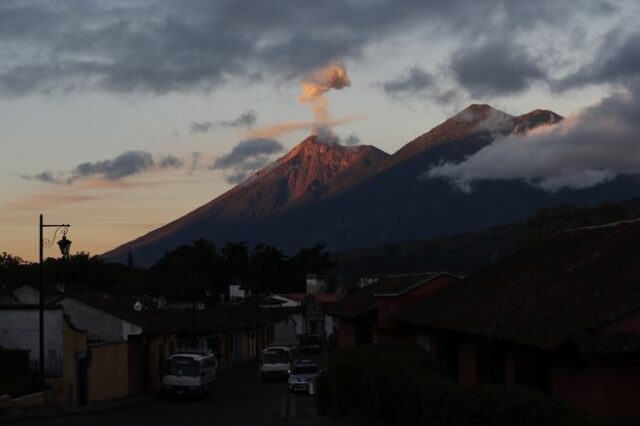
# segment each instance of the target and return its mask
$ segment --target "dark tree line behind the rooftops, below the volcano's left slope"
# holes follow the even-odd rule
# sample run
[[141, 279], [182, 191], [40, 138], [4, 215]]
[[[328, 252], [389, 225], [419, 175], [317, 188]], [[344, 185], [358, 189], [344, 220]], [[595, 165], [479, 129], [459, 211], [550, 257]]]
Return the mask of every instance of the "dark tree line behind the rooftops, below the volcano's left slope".
[[[44, 262], [48, 290], [106, 292], [115, 296], [146, 294], [169, 299], [210, 298], [227, 295], [229, 284], [240, 284], [254, 293], [304, 292], [306, 275], [324, 274], [332, 266], [329, 252], [321, 244], [301, 248], [291, 256], [272, 245], [249, 247], [228, 242], [221, 247], [196, 240], [168, 251], [153, 266], [107, 262], [89, 253]], [[0, 255], [0, 289], [40, 282], [38, 263], [24, 261], [6, 252]]]

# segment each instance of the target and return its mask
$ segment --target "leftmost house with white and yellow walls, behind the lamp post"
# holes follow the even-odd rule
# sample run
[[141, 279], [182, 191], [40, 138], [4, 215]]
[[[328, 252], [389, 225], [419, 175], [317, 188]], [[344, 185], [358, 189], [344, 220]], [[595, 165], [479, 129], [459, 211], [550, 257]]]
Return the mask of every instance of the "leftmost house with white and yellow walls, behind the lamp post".
[[[31, 371], [40, 372], [39, 305], [0, 306], [0, 347], [22, 349], [29, 353]], [[86, 403], [88, 382], [95, 375], [89, 369], [86, 333], [78, 330], [64, 314], [62, 306], [45, 306], [44, 374], [53, 388], [54, 405], [75, 406]]]

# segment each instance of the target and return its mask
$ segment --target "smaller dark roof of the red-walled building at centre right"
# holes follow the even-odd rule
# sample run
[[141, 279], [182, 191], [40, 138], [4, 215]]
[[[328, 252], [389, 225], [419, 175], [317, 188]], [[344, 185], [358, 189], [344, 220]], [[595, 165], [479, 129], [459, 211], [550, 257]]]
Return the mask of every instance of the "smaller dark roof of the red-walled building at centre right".
[[355, 294], [331, 304], [329, 314], [339, 318], [355, 319], [377, 308], [376, 296], [400, 295], [439, 275], [441, 273], [394, 275], [381, 278], [359, 289]]

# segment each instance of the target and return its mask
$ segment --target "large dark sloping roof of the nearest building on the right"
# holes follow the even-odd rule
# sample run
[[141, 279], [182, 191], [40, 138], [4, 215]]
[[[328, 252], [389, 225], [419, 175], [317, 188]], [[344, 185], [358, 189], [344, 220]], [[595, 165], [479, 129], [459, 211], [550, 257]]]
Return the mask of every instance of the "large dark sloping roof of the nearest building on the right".
[[640, 223], [558, 234], [397, 316], [549, 349], [640, 309]]

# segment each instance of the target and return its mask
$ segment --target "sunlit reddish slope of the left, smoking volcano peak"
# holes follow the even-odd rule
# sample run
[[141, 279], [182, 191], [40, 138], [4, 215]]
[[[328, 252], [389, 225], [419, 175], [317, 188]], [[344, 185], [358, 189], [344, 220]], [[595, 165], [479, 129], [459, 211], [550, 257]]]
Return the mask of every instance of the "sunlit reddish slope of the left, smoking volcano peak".
[[[334, 180], [362, 173], [389, 154], [372, 146], [326, 144], [309, 136], [273, 164], [191, 213], [103, 255], [123, 260], [131, 250], [144, 264], [164, 250], [216, 235], [216, 227], [276, 214], [301, 200], [316, 200]], [[194, 232], [190, 230], [193, 229]], [[145, 250], [152, 249], [147, 255]]]

